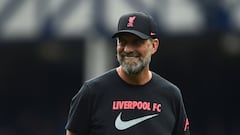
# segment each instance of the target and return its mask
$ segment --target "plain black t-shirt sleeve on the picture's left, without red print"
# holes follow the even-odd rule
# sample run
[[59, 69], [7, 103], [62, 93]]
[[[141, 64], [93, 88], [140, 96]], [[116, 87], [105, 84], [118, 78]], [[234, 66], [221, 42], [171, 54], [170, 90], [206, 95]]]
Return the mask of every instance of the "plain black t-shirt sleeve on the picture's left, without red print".
[[66, 130], [79, 135], [86, 135], [90, 127], [90, 99], [88, 86], [84, 84], [79, 92], [72, 98]]

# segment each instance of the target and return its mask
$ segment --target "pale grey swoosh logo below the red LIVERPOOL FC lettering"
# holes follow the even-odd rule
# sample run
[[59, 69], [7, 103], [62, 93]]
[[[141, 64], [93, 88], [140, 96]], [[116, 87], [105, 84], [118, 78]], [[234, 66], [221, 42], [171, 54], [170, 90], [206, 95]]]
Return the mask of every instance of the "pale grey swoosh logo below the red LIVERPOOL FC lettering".
[[135, 126], [135, 125], [137, 125], [137, 124], [139, 124], [139, 123], [141, 123], [145, 120], [148, 120], [150, 118], [158, 116], [158, 114], [152, 114], [152, 115], [146, 115], [146, 116], [135, 118], [135, 119], [128, 120], [128, 121], [123, 121], [121, 119], [121, 115], [122, 115], [122, 112], [119, 113], [119, 115], [117, 116], [117, 118], [115, 120], [115, 127], [118, 130], [128, 129], [128, 128], [130, 128], [132, 126]]

